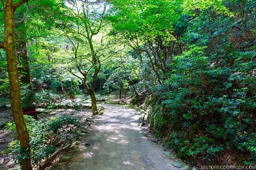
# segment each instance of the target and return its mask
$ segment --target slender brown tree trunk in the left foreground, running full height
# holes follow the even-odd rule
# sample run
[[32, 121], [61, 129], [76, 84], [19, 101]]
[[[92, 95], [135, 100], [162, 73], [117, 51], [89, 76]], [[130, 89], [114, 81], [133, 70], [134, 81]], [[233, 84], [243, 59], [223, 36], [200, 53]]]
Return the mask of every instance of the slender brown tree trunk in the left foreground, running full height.
[[17, 135], [20, 140], [22, 152], [26, 154], [21, 161], [21, 170], [32, 170], [29, 146], [29, 132], [26, 127], [21, 108], [19, 74], [17, 69], [15, 40], [14, 40], [14, 12], [13, 0], [6, 0], [4, 6], [4, 43], [6, 51], [7, 69], [11, 89], [12, 116], [16, 125]]

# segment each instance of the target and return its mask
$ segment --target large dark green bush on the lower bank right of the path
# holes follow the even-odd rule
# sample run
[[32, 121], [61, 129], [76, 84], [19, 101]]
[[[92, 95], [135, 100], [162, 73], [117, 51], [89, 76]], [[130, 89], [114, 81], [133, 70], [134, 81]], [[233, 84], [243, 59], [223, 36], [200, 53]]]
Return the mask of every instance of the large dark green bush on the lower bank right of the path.
[[[253, 164], [256, 64], [250, 56], [256, 56], [256, 52], [233, 51], [214, 65], [214, 56], [206, 57], [206, 48], [192, 45], [174, 58], [170, 78], [161, 88], [169, 89], [163, 93], [161, 106], [167, 108], [169, 116], [160, 109], [152, 110], [148, 116], [151, 128], [156, 136], [169, 134], [167, 146], [185, 159], [210, 161], [223, 155], [223, 151], [236, 150], [244, 157], [244, 164]], [[227, 58], [233, 60], [225, 63]], [[155, 97], [158, 93], [154, 93]], [[156, 108], [155, 104], [150, 105]]]

